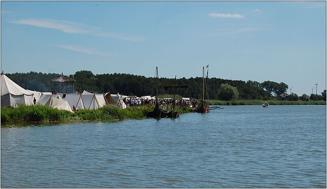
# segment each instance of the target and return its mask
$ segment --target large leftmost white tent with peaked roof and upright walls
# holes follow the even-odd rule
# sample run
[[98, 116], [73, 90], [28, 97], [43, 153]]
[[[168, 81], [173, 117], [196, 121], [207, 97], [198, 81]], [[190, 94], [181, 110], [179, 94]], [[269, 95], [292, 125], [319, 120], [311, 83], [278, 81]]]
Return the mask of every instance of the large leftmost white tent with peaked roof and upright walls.
[[5, 74], [1, 74], [1, 106], [32, 105], [33, 93], [17, 85]]

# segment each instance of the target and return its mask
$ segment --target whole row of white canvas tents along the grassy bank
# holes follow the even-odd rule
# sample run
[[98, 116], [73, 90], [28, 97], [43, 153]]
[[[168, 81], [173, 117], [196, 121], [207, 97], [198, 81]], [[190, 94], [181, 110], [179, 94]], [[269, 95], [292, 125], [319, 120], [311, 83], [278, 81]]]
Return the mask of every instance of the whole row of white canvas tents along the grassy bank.
[[95, 94], [85, 90], [81, 94], [52, 94], [51, 92], [25, 90], [9, 79], [6, 75], [1, 74], [2, 107], [15, 107], [19, 104], [32, 105], [34, 98], [37, 100], [37, 104], [72, 112], [73, 106], [75, 106], [76, 109], [90, 110], [96, 110], [105, 105], [116, 105], [120, 108], [126, 108], [123, 99], [128, 97], [119, 93], [110, 94], [107, 92], [104, 94]]

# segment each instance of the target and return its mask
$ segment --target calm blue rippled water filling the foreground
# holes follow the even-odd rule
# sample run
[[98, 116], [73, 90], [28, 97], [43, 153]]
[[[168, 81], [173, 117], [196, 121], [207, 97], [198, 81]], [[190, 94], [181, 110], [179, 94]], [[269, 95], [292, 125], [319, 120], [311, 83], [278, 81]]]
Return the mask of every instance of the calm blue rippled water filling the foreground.
[[1, 128], [1, 187], [326, 187], [326, 106]]

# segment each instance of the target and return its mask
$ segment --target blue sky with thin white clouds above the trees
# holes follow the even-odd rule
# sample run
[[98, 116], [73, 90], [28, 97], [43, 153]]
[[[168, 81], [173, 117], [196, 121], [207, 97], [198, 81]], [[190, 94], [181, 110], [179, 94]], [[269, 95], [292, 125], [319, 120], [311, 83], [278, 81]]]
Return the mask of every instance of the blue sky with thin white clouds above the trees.
[[[127, 73], [326, 89], [326, 2], [1, 1], [4, 73]], [[290, 89], [287, 90], [290, 93]]]

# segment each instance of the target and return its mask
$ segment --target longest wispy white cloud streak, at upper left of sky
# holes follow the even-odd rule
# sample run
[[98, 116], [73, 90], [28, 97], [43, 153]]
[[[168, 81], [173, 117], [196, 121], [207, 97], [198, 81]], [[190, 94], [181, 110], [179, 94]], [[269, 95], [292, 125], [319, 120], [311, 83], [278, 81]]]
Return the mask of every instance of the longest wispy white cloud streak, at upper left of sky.
[[93, 27], [82, 23], [69, 22], [64, 20], [21, 19], [21, 20], [11, 21], [10, 23], [58, 29], [63, 31], [64, 33], [70, 33], [70, 34], [85, 34], [85, 35], [107, 37], [107, 38], [132, 41], [132, 42], [144, 41], [144, 39], [140, 37], [133, 37], [127, 35], [125, 36], [122, 34], [115, 34], [115, 33], [106, 33], [104, 31], [101, 31], [100, 27]]

